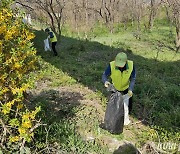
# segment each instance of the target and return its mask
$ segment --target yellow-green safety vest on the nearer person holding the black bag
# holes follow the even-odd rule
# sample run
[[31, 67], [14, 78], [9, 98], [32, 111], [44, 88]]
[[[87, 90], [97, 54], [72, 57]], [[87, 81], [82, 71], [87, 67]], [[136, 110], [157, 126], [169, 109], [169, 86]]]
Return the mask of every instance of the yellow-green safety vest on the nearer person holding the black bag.
[[133, 61], [127, 61], [127, 69], [121, 72], [116, 66], [115, 61], [110, 62], [111, 79], [114, 87], [118, 91], [124, 91], [129, 87], [130, 76], [133, 71]]

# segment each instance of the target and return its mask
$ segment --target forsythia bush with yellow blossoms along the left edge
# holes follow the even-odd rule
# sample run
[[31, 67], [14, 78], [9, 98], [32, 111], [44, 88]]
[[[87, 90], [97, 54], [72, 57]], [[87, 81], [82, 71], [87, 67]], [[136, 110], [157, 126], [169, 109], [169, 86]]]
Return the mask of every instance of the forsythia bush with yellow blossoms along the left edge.
[[4, 150], [10, 145], [22, 148], [31, 141], [38, 125], [35, 116], [40, 111], [40, 107], [29, 111], [23, 104], [30, 86], [27, 75], [37, 61], [31, 43], [34, 34], [7, 2], [0, 4], [0, 149]]

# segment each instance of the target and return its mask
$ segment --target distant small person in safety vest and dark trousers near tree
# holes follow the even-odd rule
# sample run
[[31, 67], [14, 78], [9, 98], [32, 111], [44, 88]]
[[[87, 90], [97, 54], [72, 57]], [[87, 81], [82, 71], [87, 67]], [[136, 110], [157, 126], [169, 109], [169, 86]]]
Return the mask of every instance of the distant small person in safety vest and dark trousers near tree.
[[57, 37], [56, 35], [54, 34], [53, 31], [50, 31], [49, 28], [46, 28], [45, 29], [45, 32], [49, 35], [48, 38], [51, 42], [51, 47], [52, 47], [52, 50], [54, 52], [54, 55], [57, 56], [57, 51], [56, 51], [56, 44], [57, 44]]

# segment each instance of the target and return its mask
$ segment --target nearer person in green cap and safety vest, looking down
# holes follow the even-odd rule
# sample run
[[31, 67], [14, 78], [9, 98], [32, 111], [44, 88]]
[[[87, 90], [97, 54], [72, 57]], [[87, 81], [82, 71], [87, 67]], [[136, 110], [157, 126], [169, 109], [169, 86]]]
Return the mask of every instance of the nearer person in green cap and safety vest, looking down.
[[136, 70], [133, 61], [128, 60], [124, 52], [118, 53], [115, 60], [110, 62], [102, 75], [102, 81], [106, 88], [111, 84], [108, 81], [109, 76], [116, 90], [123, 95], [129, 94], [129, 113], [131, 113], [133, 88], [136, 80]]

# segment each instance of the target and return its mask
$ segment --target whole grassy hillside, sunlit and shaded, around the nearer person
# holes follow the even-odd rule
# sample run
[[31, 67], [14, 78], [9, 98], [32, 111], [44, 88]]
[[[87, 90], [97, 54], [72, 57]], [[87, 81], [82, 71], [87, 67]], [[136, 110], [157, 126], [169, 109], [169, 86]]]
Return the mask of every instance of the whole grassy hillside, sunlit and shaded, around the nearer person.
[[[41, 58], [39, 72], [33, 74], [39, 81], [31, 99], [42, 106], [40, 116], [50, 126], [50, 143], [72, 153], [109, 153], [107, 137], [131, 141], [139, 148], [148, 140], [179, 143], [180, 53], [173, 49], [168, 27], [143, 32], [140, 40], [132, 31], [89, 40], [64, 35], [57, 45], [58, 57], [44, 51], [45, 33], [35, 30], [35, 34]], [[125, 127], [123, 134], [111, 135], [98, 127], [108, 96], [101, 75], [120, 51], [127, 53], [137, 69], [133, 124]], [[43, 128], [38, 134], [42, 142], [46, 140]]]

